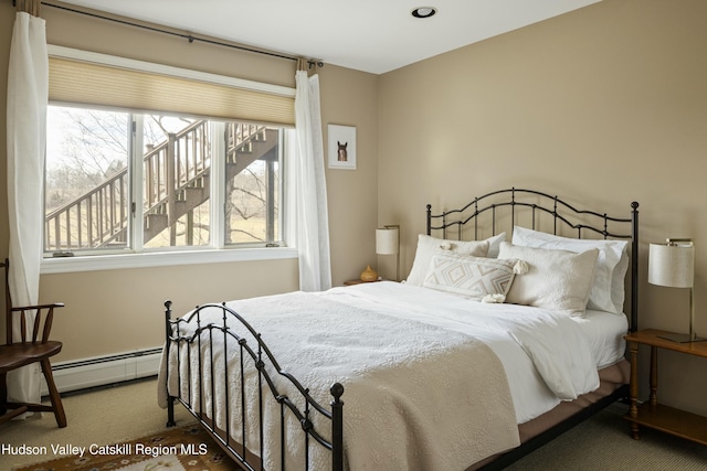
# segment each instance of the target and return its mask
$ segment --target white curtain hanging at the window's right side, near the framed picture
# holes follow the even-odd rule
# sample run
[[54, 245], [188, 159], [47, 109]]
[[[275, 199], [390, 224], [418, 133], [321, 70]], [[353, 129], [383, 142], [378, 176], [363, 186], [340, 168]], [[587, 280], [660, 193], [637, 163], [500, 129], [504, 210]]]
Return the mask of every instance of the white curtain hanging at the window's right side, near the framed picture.
[[331, 288], [319, 76], [296, 75], [295, 127], [287, 133], [287, 242], [299, 253], [299, 289]]

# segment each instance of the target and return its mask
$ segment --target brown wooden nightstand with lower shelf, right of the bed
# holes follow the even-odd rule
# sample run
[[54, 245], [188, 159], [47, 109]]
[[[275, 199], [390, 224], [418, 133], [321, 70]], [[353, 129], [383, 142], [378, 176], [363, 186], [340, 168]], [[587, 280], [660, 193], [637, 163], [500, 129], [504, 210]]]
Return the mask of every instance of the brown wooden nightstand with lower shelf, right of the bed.
[[[662, 430], [698, 443], [707, 445], [707, 417], [658, 404], [658, 349], [707, 357], [707, 342], [677, 343], [661, 339], [671, 332], [646, 329], [624, 336], [631, 351], [631, 408], [625, 418], [631, 421], [633, 438], [639, 439], [640, 426]], [[651, 346], [651, 397], [639, 404], [639, 345]]]

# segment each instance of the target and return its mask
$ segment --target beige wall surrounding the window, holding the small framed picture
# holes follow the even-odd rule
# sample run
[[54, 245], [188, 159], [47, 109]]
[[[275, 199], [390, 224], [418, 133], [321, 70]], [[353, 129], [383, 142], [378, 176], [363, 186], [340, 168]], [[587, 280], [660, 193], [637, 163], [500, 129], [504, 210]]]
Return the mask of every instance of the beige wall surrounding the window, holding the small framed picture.
[[[294, 87], [295, 62], [119, 25], [44, 7], [50, 44], [151, 61], [215, 74]], [[11, 2], [0, 2], [0, 64], [7, 69], [14, 19]], [[331, 223], [333, 277], [340, 285], [374, 261], [377, 204], [377, 79], [371, 74], [325, 66], [320, 71], [321, 115], [326, 124], [357, 126], [358, 170], [327, 171]], [[6, 109], [7, 74], [0, 74], [0, 109]], [[326, 138], [326, 136], [325, 136]], [[0, 178], [7, 160], [6, 114], [0, 114]], [[362, 190], [368, 188], [368, 190]], [[7, 194], [0, 192], [0, 255], [7, 254]], [[262, 296], [298, 287], [296, 259], [119, 269], [41, 278], [43, 301], [66, 303], [53, 336], [64, 349], [56, 361], [159, 346], [162, 302], [175, 312], [208, 301]]]

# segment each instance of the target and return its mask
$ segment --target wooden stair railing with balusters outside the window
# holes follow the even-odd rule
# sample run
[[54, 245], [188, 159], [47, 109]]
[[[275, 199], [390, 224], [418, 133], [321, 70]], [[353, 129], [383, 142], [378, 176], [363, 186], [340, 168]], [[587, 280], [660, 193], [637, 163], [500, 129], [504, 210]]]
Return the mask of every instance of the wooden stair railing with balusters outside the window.
[[[239, 150], [264, 136], [265, 129], [264, 126], [240, 122], [231, 122], [226, 127], [229, 162], [235, 161]], [[207, 178], [210, 160], [208, 120], [194, 121], [179, 132], [168, 135], [168, 139], [158, 146], [148, 147], [144, 158], [145, 217], [167, 214], [172, 226], [181, 216], [176, 210], [176, 202], [183, 197], [186, 188]], [[128, 201], [126, 168], [45, 216], [45, 249], [64, 251], [124, 245]]]

